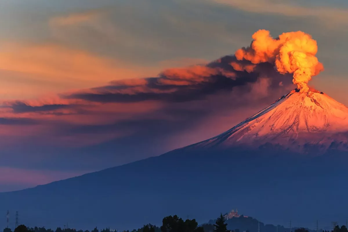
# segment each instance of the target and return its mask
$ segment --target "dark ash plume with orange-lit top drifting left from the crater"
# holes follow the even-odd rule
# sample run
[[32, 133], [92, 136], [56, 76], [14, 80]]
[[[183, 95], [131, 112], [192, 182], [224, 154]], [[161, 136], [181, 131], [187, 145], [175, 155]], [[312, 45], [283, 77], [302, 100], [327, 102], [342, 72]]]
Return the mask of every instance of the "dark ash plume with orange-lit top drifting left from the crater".
[[168, 69], [159, 77], [127, 82], [112, 82], [108, 86], [62, 95], [67, 99], [82, 99], [91, 102], [188, 102], [203, 99], [219, 91], [231, 91], [237, 86], [255, 83], [267, 77], [271, 88], [280, 82], [291, 84], [291, 75], [282, 75], [269, 63], [252, 64], [238, 61], [235, 56], [225, 56], [207, 65], [180, 69]]

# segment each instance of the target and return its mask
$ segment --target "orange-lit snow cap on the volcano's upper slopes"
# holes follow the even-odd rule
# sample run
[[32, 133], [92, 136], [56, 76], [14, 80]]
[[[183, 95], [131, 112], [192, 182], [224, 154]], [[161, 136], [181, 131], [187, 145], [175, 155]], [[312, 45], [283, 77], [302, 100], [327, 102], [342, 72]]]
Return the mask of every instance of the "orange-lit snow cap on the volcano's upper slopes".
[[315, 146], [348, 150], [348, 108], [316, 90], [293, 90], [230, 130], [193, 146], [277, 145], [305, 151]]

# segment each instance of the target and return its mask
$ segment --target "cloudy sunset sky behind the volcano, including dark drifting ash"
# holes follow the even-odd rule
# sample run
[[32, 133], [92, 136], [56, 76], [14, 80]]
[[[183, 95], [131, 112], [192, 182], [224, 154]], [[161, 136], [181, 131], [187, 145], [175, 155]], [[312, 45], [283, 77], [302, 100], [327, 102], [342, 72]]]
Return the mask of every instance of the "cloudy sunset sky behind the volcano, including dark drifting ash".
[[306, 32], [348, 105], [346, 0], [0, 1], [0, 191], [200, 142], [295, 86], [234, 57], [259, 29]]

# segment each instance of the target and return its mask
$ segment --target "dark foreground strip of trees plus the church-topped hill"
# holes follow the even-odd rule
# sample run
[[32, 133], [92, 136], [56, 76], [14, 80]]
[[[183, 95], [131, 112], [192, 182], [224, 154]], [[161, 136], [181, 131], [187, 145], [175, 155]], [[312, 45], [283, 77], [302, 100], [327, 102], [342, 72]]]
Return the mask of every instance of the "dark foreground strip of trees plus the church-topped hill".
[[[271, 225], [264, 224], [255, 218], [239, 215], [238, 211], [232, 210], [228, 214], [220, 214], [216, 219], [209, 220], [208, 223], [199, 224], [196, 219], [183, 219], [177, 215], [170, 215], [164, 217], [160, 225], [153, 225], [151, 223], [143, 225], [138, 229], [128, 229], [123, 230], [123, 232], [259, 232], [259, 231], [284, 231], [284, 232], [347, 232], [347, 222], [346, 225], [332, 224], [329, 230], [324, 230], [319, 227], [318, 222], [316, 223], [316, 230], [311, 230], [305, 227], [293, 226], [290, 222], [290, 227], [285, 227], [283, 225]], [[18, 213], [18, 212], [17, 212]], [[18, 216], [16, 214], [16, 216]], [[99, 229], [94, 227], [90, 230], [81, 230], [74, 227], [69, 227], [67, 223], [64, 228], [57, 227], [57, 229], [52, 230], [50, 228], [31, 226], [27, 227], [23, 224], [18, 224], [18, 218], [16, 217], [16, 227], [14, 232], [117, 232], [115, 228], [102, 228]], [[12, 232], [10, 227], [6, 227], [3, 232]]]

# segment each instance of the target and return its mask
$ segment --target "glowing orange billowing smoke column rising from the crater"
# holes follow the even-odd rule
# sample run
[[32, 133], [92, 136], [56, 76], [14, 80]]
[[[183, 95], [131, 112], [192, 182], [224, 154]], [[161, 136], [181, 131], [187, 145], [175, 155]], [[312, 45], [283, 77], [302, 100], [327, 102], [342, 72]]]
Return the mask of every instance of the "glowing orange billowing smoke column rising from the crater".
[[310, 79], [324, 70], [315, 56], [317, 41], [302, 31], [286, 32], [273, 39], [267, 30], [253, 34], [250, 47], [238, 49], [238, 60], [246, 59], [253, 64], [269, 62], [275, 64], [278, 72], [292, 73], [293, 83], [301, 92], [308, 92]]

